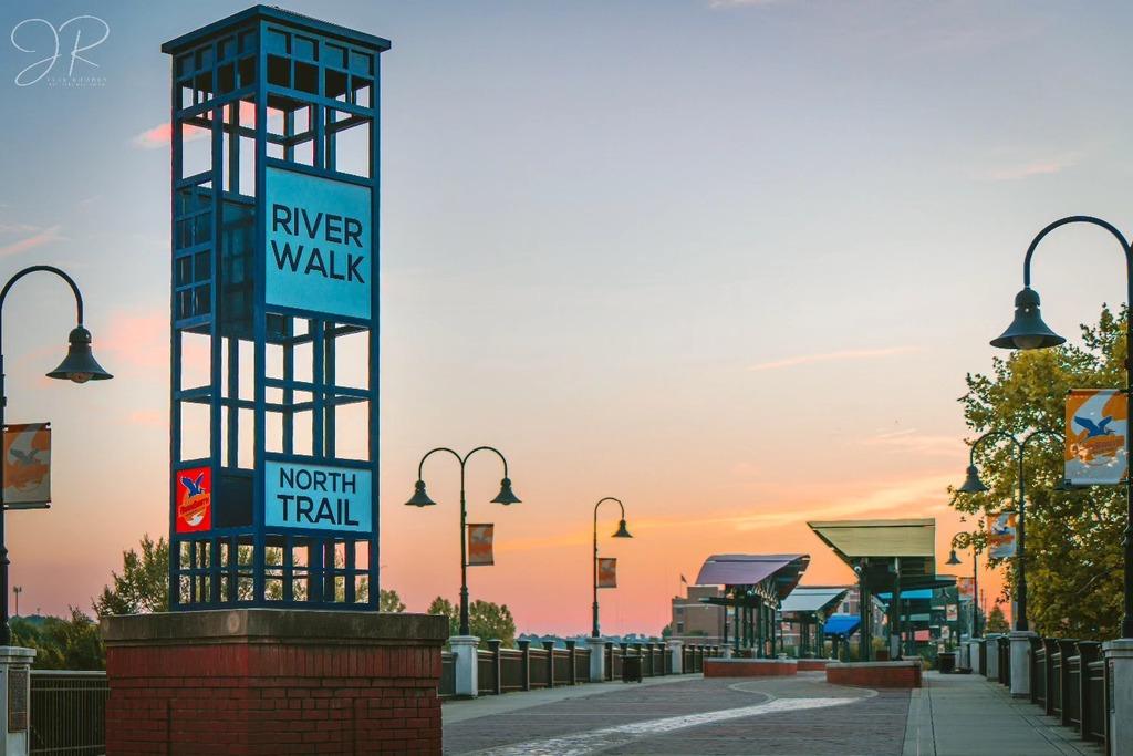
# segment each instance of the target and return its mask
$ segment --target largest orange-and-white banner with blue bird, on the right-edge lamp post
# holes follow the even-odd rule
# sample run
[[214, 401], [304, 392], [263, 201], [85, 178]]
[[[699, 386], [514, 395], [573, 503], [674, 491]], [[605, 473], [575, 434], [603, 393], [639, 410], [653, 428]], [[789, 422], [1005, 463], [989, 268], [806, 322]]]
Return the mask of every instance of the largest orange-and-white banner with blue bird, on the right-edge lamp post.
[[1115, 389], [1074, 389], [1066, 396], [1066, 479], [1116, 485], [1128, 475], [1128, 405]]

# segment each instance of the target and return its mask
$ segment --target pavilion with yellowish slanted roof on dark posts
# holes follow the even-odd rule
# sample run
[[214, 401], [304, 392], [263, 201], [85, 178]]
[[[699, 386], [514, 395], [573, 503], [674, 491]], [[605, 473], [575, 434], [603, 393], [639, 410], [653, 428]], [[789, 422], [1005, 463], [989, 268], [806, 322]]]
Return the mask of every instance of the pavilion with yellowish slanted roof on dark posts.
[[872, 597], [881, 593], [893, 594], [887, 656], [914, 654], [913, 634], [902, 632], [902, 592], [944, 587], [955, 581], [954, 577], [936, 575], [936, 520], [826, 520], [808, 525], [858, 576], [860, 661], [874, 659], [876, 629], [869, 608]]

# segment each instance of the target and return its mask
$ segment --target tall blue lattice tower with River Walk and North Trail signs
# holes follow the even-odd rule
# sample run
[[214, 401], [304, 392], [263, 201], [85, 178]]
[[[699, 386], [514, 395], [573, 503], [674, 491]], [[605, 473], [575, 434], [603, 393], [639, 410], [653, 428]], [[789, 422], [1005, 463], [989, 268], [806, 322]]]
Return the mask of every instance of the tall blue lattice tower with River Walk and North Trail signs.
[[264, 6], [162, 46], [173, 610], [377, 609], [389, 48]]

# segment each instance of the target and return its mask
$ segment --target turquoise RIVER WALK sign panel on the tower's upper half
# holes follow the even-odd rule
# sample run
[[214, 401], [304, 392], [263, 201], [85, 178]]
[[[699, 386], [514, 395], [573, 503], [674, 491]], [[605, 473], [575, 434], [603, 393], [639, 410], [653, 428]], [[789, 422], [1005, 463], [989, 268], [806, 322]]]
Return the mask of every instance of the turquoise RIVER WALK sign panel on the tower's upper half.
[[274, 167], [266, 181], [267, 306], [369, 320], [370, 189]]

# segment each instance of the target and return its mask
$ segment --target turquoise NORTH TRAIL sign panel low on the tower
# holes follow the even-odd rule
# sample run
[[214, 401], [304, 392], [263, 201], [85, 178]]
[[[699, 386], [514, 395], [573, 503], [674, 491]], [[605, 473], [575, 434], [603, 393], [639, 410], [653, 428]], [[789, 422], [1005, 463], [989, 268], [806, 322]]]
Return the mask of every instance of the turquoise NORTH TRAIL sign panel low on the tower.
[[269, 460], [264, 475], [269, 528], [369, 533], [374, 508], [369, 470]]

